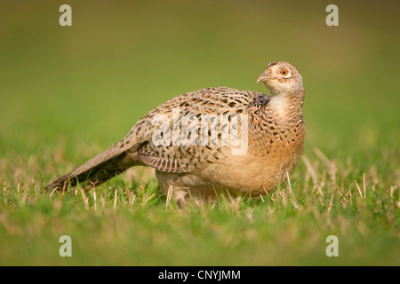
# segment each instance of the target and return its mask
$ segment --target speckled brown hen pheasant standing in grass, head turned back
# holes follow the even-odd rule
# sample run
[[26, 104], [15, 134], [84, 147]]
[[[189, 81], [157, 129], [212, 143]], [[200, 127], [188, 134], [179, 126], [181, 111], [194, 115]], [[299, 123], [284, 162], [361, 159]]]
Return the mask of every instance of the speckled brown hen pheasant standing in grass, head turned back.
[[77, 182], [92, 187], [146, 165], [156, 170], [164, 193], [180, 202], [219, 192], [269, 193], [284, 183], [304, 152], [304, 88], [296, 68], [284, 61], [271, 62], [259, 82], [270, 95], [216, 87], [166, 101], [122, 141], [46, 189]]

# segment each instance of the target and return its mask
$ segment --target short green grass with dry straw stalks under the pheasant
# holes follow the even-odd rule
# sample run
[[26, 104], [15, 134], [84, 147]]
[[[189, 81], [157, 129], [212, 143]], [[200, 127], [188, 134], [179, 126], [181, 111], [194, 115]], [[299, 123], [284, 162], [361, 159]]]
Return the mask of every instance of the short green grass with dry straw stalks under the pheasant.
[[[395, 185], [373, 167], [363, 175], [316, 153], [321, 159], [300, 164], [291, 185], [268, 196], [184, 209], [142, 169], [127, 174], [132, 183], [116, 177], [91, 192], [46, 193], [30, 176], [46, 159], [32, 160], [16, 171], [16, 186], [1, 180], [1, 264], [398, 264]], [[72, 257], [58, 254], [64, 234]], [[331, 234], [339, 257], [325, 256]]]

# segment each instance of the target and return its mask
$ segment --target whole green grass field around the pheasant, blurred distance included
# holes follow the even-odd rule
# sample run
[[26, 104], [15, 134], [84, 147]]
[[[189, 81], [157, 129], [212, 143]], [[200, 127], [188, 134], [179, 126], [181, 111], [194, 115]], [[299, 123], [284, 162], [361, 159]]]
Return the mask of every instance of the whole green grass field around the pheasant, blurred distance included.
[[[398, 3], [335, 1], [339, 27], [328, 1], [74, 0], [72, 27], [61, 4], [0, 3], [1, 265], [400, 264]], [[307, 134], [268, 196], [180, 209], [146, 168], [44, 191], [176, 95], [267, 92], [276, 59], [303, 76]]]

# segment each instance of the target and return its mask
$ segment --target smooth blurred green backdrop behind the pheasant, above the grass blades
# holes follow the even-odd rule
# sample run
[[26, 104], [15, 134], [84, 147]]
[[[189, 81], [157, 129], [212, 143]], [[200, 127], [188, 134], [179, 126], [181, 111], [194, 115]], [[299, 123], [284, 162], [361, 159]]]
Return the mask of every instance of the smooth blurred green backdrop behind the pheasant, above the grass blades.
[[[72, 27], [59, 25], [61, 4], [72, 7]], [[328, 4], [339, 7], [339, 27], [325, 24]], [[304, 80], [306, 155], [317, 147], [356, 165], [361, 176], [352, 178], [373, 165], [398, 186], [399, 8], [397, 1], [1, 1], [0, 158], [12, 170], [32, 155], [53, 162], [49, 154], [63, 148], [57, 167], [36, 169], [44, 185], [174, 96], [212, 86], [268, 92], [258, 75], [285, 60]]]

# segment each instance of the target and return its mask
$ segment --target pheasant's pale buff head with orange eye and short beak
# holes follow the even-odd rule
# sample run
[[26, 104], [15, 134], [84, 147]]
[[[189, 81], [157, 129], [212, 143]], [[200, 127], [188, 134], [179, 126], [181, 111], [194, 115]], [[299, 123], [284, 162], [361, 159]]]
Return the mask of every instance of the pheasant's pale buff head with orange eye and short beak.
[[274, 61], [257, 79], [271, 91], [271, 95], [290, 94], [303, 91], [303, 80], [292, 64], [284, 61]]

